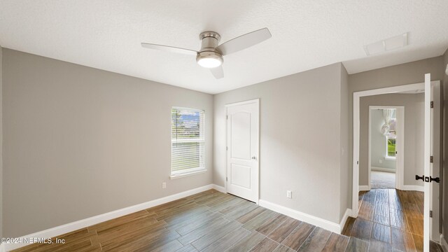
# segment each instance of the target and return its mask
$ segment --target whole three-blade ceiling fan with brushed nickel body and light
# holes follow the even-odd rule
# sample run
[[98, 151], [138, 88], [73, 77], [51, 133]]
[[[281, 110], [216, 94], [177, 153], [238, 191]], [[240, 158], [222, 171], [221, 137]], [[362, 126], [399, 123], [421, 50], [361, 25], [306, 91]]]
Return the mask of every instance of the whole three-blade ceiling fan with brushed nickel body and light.
[[169, 45], [156, 45], [152, 43], [141, 43], [141, 46], [155, 50], [195, 55], [197, 64], [202, 67], [209, 68], [215, 78], [219, 79], [224, 77], [222, 66], [223, 56], [249, 48], [252, 45], [256, 45], [267, 40], [271, 36], [272, 35], [269, 32], [269, 29], [263, 28], [238, 36], [230, 41], [218, 45], [221, 40], [221, 36], [215, 31], [204, 31], [199, 36], [201, 40], [201, 49], [199, 51], [176, 48]]

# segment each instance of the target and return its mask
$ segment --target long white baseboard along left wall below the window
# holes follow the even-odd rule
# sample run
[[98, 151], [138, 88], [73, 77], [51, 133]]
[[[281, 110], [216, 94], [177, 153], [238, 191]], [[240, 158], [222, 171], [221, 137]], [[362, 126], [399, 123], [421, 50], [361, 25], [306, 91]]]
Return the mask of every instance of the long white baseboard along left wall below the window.
[[[222, 187], [221, 186], [216, 186], [216, 185], [213, 185], [213, 184], [210, 184], [210, 185], [207, 185], [207, 186], [202, 186], [200, 188], [195, 188], [195, 189], [188, 190], [188, 191], [185, 191], [185, 192], [182, 192], [182, 193], [176, 193], [174, 195], [169, 195], [167, 197], [162, 197], [162, 198], [157, 199], [157, 200], [151, 200], [149, 202], [144, 202], [144, 203], [137, 204], [137, 205], [134, 205], [134, 206], [131, 206], [131, 207], [125, 207], [123, 209], [118, 209], [116, 211], [111, 211], [111, 212], [106, 213], [106, 214], [100, 214], [98, 216], [85, 218], [85, 219], [80, 220], [80, 221], [75, 221], [75, 222], [68, 223], [68, 224], [65, 224], [65, 225], [60, 225], [60, 226], [57, 226], [55, 228], [49, 228], [48, 230], [35, 232], [34, 234], [25, 235], [25, 236], [23, 236], [21, 238], [25, 239], [25, 238], [31, 238], [31, 237], [33, 237], [33, 238], [57, 237], [58, 235], [63, 235], [63, 234], [66, 234], [68, 232], [72, 232], [72, 231], [78, 230], [80, 228], [87, 228], [88, 226], [95, 225], [97, 223], [102, 223], [104, 221], [109, 221], [109, 220], [111, 220], [113, 218], [118, 218], [118, 217], [121, 217], [121, 216], [125, 216], [127, 214], [132, 214], [132, 213], [135, 213], [137, 211], [141, 211], [141, 210], [144, 210], [144, 209], [155, 207], [155, 206], [158, 206], [160, 204], [165, 204], [165, 203], [168, 203], [168, 202], [172, 202], [174, 200], [179, 200], [179, 199], [181, 199], [183, 197], [188, 197], [190, 195], [195, 195], [196, 193], [201, 193], [201, 192], [204, 192], [206, 190], [216, 189], [216, 188], [222, 188]], [[218, 189], [216, 189], [216, 190], [218, 190]], [[13, 250], [15, 248], [21, 248], [22, 246], [27, 246], [27, 245], [29, 245], [29, 244], [25, 244], [25, 243], [24, 244], [8, 244], [8, 243], [7, 244], [1, 244], [0, 245], [0, 252], [11, 251], [11, 250]]]

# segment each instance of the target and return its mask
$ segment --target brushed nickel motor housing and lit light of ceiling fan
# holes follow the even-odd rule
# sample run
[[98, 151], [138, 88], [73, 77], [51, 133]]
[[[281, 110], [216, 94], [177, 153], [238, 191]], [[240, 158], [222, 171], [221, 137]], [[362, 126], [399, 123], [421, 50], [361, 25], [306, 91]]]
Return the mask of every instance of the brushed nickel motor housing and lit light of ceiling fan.
[[201, 66], [204, 66], [204, 64], [201, 64], [203, 60], [208, 62], [216, 62], [216, 64], [204, 67], [216, 67], [223, 64], [223, 55], [221, 54], [221, 52], [216, 50], [216, 48], [218, 47], [218, 43], [221, 40], [221, 36], [215, 31], [204, 31], [202, 32], [202, 34], [200, 34], [199, 37], [201, 40], [201, 50], [197, 52], [197, 63]]

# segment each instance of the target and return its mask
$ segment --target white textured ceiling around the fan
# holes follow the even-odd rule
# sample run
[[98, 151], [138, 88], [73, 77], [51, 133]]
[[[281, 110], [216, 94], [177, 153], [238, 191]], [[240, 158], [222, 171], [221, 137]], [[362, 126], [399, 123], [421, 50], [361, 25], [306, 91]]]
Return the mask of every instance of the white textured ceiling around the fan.
[[[198, 50], [202, 31], [225, 42], [263, 27], [272, 38], [225, 56], [221, 80], [195, 57], [140, 46]], [[407, 31], [407, 47], [365, 55], [363, 45]], [[0, 0], [0, 45], [216, 94], [335, 62], [357, 73], [442, 55], [448, 1]]]

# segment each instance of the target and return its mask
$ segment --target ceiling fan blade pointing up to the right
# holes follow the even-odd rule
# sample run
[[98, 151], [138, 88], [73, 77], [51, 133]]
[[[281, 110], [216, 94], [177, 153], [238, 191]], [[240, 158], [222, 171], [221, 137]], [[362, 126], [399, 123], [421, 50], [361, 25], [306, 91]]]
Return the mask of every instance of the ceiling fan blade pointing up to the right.
[[269, 32], [269, 29], [263, 28], [233, 38], [230, 41], [222, 43], [216, 49], [222, 52], [223, 55], [230, 55], [230, 53], [249, 48], [252, 45], [256, 45], [270, 37], [272, 37], [272, 35]]

